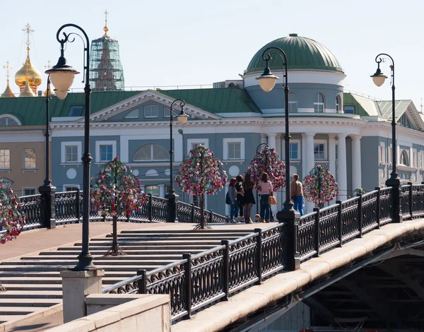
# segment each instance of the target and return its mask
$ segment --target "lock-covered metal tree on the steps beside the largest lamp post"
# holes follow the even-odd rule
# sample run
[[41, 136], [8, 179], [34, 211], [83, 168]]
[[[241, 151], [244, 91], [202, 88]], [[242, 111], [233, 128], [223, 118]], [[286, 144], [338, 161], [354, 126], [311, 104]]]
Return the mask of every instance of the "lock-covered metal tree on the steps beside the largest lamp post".
[[100, 167], [100, 172], [91, 178], [90, 188], [92, 206], [105, 216], [112, 217], [112, 247], [106, 256], [124, 255], [117, 241], [117, 219], [124, 215], [129, 219], [146, 201], [140, 180], [133, 174], [131, 167], [116, 157]]

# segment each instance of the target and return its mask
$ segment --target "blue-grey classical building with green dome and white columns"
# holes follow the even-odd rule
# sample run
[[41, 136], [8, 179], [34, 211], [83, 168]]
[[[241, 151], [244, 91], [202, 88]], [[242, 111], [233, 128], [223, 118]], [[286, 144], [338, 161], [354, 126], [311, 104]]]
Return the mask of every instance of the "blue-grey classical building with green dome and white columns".
[[[93, 92], [90, 118], [92, 174], [102, 163], [119, 156], [141, 179], [146, 192], [165, 197], [170, 184], [170, 105], [185, 100], [189, 120], [174, 125], [174, 162], [176, 170], [193, 147], [203, 144], [223, 161], [229, 177], [244, 174], [257, 146], [268, 143], [284, 156], [283, 59], [270, 52], [269, 66], [280, 77], [276, 87], [266, 93], [256, 79], [265, 67], [262, 53], [266, 47], [280, 47], [288, 57], [290, 112], [290, 174], [300, 179], [314, 167], [324, 165], [336, 175], [338, 199], [354, 195], [355, 189], [370, 191], [384, 186], [391, 172], [391, 100], [376, 100], [344, 90], [346, 74], [336, 55], [319, 42], [294, 33], [267, 43], [252, 54], [242, 78], [213, 83], [213, 88], [143, 91]], [[236, 73], [235, 73], [236, 74]], [[225, 78], [223, 78], [225, 79]], [[369, 79], [369, 78], [364, 78]], [[140, 85], [147, 85], [140, 82]], [[52, 97], [52, 179], [58, 191], [82, 187], [83, 93], [69, 93], [65, 100]], [[402, 179], [424, 180], [424, 121], [411, 100], [396, 100], [398, 142], [397, 167]], [[11, 126], [20, 119], [18, 127]], [[4, 119], [4, 120], [3, 120]], [[22, 150], [17, 142], [34, 138], [20, 126], [43, 128], [43, 97], [0, 99], [0, 155], [9, 156], [0, 163], [7, 171], [11, 186], [22, 177]], [[18, 130], [18, 131], [17, 131]], [[17, 135], [10, 133], [16, 131]], [[3, 152], [2, 152], [3, 150]], [[35, 158], [44, 160], [42, 149]], [[6, 157], [4, 157], [6, 158]], [[1, 165], [4, 167], [2, 168]], [[37, 164], [38, 165], [38, 164]], [[7, 166], [7, 167], [6, 167]], [[175, 174], [174, 172], [174, 174]], [[30, 180], [31, 181], [31, 180]], [[40, 183], [25, 184], [37, 189]], [[174, 186], [177, 188], [177, 186]], [[13, 187], [21, 193], [23, 188]], [[225, 189], [226, 190], [226, 189]], [[206, 208], [228, 213], [225, 190], [206, 197]], [[199, 203], [195, 196], [177, 191], [179, 199]], [[284, 191], [277, 194], [280, 210]], [[307, 203], [305, 210], [312, 211]], [[254, 211], [255, 211], [254, 207]]]

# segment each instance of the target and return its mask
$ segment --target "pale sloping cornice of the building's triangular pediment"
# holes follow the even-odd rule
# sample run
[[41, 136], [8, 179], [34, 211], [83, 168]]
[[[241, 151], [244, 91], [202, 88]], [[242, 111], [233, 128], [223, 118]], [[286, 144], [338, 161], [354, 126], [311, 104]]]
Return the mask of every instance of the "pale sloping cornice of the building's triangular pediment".
[[[113, 119], [117, 117], [118, 114], [129, 113], [132, 109], [136, 107], [146, 104], [146, 102], [152, 101], [155, 103], [159, 103], [164, 107], [170, 107], [172, 102], [175, 99], [163, 95], [162, 93], [155, 90], [146, 90], [138, 95], [134, 95], [126, 100], [122, 100], [122, 102], [118, 102], [117, 104], [111, 105], [110, 107], [106, 107], [105, 109], [101, 109], [98, 112], [91, 114], [90, 121], [91, 122], [104, 122], [104, 121], [114, 121]], [[184, 106], [184, 112], [189, 114], [191, 119], [221, 119], [216, 114], [212, 114], [210, 112], [206, 112], [199, 107], [194, 107], [193, 105], [186, 104]], [[156, 119], [149, 119], [150, 121], [156, 121]], [[83, 119], [78, 122], [82, 122]], [[126, 119], [121, 119], [120, 121], [126, 121]], [[143, 120], [148, 121], [148, 120]]]

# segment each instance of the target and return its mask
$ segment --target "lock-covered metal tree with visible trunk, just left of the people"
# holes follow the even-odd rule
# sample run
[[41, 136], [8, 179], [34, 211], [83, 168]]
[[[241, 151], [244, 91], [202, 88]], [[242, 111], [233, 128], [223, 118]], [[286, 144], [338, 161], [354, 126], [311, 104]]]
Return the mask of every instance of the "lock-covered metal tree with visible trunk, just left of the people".
[[223, 163], [206, 146], [198, 146], [183, 160], [175, 182], [182, 191], [199, 196], [200, 222], [194, 229], [211, 228], [205, 221], [204, 194], [214, 194], [225, 186], [227, 173]]

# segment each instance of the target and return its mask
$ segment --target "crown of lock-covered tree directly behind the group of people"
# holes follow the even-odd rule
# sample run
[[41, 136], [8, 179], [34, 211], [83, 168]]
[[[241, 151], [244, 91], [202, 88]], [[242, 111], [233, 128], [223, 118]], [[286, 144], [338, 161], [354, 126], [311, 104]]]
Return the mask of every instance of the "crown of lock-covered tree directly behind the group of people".
[[285, 186], [285, 163], [280, 159], [278, 153], [268, 145], [254, 155], [245, 174], [250, 173], [252, 181], [257, 189], [260, 190], [261, 177], [264, 172], [269, 175], [269, 181], [271, 181], [273, 191], [277, 191]]

